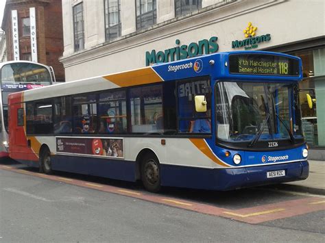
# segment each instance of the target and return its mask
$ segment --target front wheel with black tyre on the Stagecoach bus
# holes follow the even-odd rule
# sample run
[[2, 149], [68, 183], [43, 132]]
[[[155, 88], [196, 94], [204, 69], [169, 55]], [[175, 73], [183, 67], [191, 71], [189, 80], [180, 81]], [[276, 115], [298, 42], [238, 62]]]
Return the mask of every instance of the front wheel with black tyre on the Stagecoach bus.
[[143, 186], [149, 192], [160, 190], [160, 164], [158, 158], [152, 153], [147, 153], [142, 159], [141, 179]]

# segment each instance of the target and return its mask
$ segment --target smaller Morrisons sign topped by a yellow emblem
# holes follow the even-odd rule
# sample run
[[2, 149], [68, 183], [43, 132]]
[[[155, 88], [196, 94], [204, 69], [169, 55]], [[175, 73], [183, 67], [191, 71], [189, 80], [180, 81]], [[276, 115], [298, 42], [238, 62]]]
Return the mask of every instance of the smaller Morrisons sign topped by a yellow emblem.
[[243, 34], [246, 39], [232, 41], [232, 49], [245, 47], [245, 50], [250, 50], [257, 48], [258, 43], [271, 40], [271, 34], [256, 36], [256, 30], [257, 27], [254, 27], [252, 22], [248, 22], [248, 26], [243, 30]]

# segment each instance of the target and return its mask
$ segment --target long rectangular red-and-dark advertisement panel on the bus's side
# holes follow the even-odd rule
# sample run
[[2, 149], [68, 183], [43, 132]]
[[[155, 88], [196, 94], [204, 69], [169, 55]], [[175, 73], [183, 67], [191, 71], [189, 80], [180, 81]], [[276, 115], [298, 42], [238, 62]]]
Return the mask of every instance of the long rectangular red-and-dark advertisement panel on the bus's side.
[[123, 158], [122, 138], [56, 138], [58, 153]]

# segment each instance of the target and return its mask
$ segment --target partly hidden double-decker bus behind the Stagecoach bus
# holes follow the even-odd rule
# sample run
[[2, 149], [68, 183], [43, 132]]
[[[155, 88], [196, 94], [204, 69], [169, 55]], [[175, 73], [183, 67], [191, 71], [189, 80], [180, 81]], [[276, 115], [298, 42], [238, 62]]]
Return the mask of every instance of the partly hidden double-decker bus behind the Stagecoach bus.
[[52, 84], [53, 69], [28, 61], [0, 63], [0, 157], [8, 157], [8, 94]]

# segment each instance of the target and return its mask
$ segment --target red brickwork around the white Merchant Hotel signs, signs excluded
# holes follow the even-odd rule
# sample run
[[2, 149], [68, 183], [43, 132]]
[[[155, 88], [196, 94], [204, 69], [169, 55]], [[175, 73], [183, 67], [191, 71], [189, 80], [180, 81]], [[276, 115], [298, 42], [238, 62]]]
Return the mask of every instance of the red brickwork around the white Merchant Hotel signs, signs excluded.
[[56, 79], [64, 81], [64, 68], [58, 60], [63, 53], [62, 1], [60, 0], [7, 1], [2, 28], [7, 34], [8, 61], [14, 60], [11, 11], [18, 12], [19, 51], [22, 60], [24, 54], [31, 53], [30, 36], [23, 36], [22, 19], [29, 17], [29, 8], [33, 7], [36, 8], [38, 62], [53, 66]]

